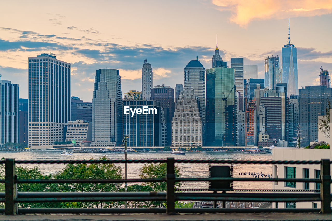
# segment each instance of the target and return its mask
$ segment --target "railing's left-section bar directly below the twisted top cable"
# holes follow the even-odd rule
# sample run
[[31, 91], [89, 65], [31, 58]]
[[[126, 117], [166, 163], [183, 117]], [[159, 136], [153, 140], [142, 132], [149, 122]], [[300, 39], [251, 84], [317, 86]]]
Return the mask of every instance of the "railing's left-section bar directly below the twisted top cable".
[[27, 183], [148, 183], [148, 182], [166, 182], [166, 178], [151, 178], [151, 179], [118, 179], [118, 180], [97, 180], [97, 179], [17, 179], [15, 183], [17, 184], [27, 184]]

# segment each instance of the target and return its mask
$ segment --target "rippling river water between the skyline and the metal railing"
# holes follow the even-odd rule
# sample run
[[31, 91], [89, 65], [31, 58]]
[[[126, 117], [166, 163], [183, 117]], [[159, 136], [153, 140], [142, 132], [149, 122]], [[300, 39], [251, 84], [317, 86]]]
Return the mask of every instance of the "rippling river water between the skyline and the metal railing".
[[[73, 153], [72, 155], [61, 155], [61, 152], [52, 151], [0, 151], [0, 158], [15, 158], [16, 160], [58, 160], [58, 159], [98, 159], [101, 156], [107, 156], [110, 159], [124, 159], [124, 153]], [[187, 152], [186, 155], [171, 155], [170, 152], [135, 152], [128, 153], [127, 159], [166, 159], [174, 157], [175, 159], [206, 159], [206, 160], [272, 160], [272, 154], [242, 154], [226, 152]], [[124, 164], [118, 164], [123, 168]], [[139, 170], [143, 164], [127, 164], [128, 179], [138, 178]], [[177, 164], [182, 173], [181, 177], [208, 177], [208, 164], [199, 163], [179, 163]], [[64, 164], [23, 164], [23, 166], [38, 166], [43, 174], [55, 174], [64, 168]], [[253, 177], [248, 172], [272, 174], [271, 164], [234, 164], [234, 177]], [[247, 175], [239, 175], [247, 173]], [[272, 182], [234, 182], [234, 189], [272, 189]], [[207, 182], [184, 182], [181, 189], [208, 189]]]

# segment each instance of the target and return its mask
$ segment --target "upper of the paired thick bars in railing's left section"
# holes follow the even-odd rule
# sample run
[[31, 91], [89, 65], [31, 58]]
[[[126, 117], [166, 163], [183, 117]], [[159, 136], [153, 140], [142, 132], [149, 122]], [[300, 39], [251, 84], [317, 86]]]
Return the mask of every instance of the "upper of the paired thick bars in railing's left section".
[[18, 198], [166, 196], [166, 192], [18, 192]]

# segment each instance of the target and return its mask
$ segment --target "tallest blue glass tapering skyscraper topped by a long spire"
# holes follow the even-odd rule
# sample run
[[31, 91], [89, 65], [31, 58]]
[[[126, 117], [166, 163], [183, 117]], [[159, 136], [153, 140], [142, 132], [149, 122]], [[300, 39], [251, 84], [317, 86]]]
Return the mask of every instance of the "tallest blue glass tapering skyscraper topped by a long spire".
[[288, 97], [297, 95], [297, 51], [295, 45], [290, 43], [290, 26], [288, 19], [288, 43], [282, 48], [283, 77], [282, 83], [287, 83]]

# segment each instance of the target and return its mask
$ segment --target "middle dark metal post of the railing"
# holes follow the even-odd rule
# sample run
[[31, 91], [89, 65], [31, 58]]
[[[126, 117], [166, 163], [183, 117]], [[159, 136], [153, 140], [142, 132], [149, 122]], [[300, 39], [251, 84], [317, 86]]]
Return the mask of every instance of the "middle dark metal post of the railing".
[[174, 164], [175, 160], [173, 157], [167, 157], [167, 193], [166, 193], [166, 213], [175, 213], [175, 174], [174, 174]]

